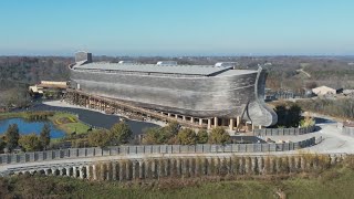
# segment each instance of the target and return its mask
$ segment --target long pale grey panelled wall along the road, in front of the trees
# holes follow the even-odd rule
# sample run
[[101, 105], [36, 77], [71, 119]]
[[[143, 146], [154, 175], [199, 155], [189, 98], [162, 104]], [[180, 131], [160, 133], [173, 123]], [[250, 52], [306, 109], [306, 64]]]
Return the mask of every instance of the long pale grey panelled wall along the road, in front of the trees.
[[229, 144], [229, 145], [136, 145], [107, 148], [69, 148], [24, 154], [0, 155], [0, 165], [44, 161], [63, 158], [84, 158], [95, 156], [114, 156], [129, 154], [210, 154], [210, 153], [268, 153], [288, 151], [305, 148], [316, 144], [315, 137], [281, 144]]

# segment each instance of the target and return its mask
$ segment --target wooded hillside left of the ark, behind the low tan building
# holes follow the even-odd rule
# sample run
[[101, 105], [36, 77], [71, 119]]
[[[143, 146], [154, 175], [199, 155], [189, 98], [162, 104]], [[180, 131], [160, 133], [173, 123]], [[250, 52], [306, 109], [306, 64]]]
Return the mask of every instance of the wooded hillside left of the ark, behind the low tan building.
[[72, 57], [0, 56], [0, 107], [25, 106], [28, 86], [42, 80], [67, 81]]

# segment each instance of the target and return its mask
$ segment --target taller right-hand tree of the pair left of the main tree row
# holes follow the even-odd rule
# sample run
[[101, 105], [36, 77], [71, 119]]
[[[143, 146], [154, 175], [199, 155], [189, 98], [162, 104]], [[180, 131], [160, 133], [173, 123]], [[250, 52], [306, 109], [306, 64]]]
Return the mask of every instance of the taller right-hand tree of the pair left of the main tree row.
[[124, 123], [117, 123], [111, 128], [111, 140], [113, 144], [126, 144], [132, 138], [133, 132], [129, 126]]

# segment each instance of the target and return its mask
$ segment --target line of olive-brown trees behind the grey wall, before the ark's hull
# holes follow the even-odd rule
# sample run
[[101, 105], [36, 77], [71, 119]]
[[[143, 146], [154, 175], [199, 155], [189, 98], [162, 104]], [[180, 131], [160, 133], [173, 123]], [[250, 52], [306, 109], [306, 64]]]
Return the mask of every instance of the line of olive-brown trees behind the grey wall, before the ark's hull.
[[[129, 143], [132, 130], [128, 125], [121, 122], [115, 124], [110, 130], [97, 129], [88, 134], [88, 144], [96, 147], [106, 147]], [[231, 143], [230, 135], [222, 127], [217, 127], [208, 132], [200, 129], [195, 132], [191, 128], [181, 128], [176, 122], [169, 123], [165, 127], [153, 127], [144, 129], [142, 144], [144, 145], [195, 145], [195, 144], [227, 144]]]

